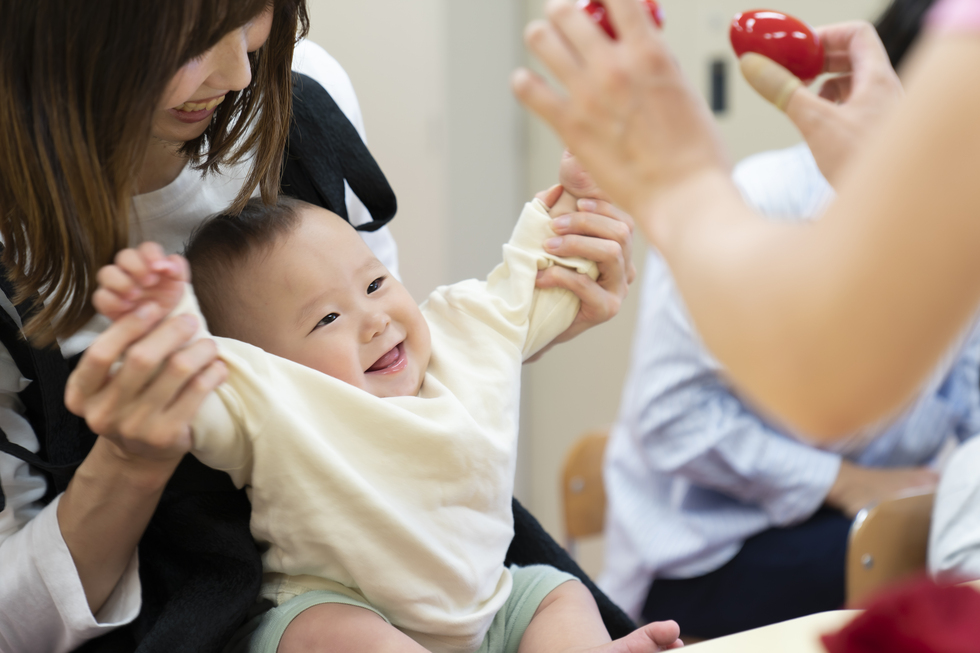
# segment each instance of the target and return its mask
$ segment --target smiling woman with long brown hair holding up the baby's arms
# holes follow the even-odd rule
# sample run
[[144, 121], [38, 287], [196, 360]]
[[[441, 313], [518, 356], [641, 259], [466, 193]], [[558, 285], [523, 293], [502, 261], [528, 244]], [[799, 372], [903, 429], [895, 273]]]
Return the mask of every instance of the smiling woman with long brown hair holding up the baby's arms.
[[[88, 300], [95, 270], [130, 242], [174, 250], [208, 214], [275, 198], [305, 2], [3, 0], [0, 16], [0, 649], [216, 650], [261, 571], [243, 539], [244, 495], [184, 459], [189, 420], [223, 367], [210, 344], [186, 346], [193, 325], [161, 323], [158, 311], [98, 335]], [[356, 133], [343, 71], [322, 51], [306, 55], [305, 72]], [[386, 217], [353, 196], [346, 205], [355, 224]], [[578, 224], [568, 233], [608, 231], [596, 216]], [[392, 262], [383, 233], [372, 244]], [[615, 312], [618, 257], [604, 258], [602, 285], [579, 291], [581, 319], [566, 335]], [[27, 346], [21, 325], [60, 351]], [[86, 348], [65, 391], [66, 358]]]

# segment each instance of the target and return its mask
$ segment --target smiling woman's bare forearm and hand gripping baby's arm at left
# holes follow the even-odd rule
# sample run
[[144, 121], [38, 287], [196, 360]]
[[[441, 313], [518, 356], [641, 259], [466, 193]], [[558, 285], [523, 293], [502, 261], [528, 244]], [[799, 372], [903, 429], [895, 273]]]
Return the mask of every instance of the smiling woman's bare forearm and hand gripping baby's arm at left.
[[[88, 349], [65, 393], [100, 437], [58, 506], [58, 521], [93, 612], [129, 564], [163, 488], [189, 450], [189, 423], [225, 376], [214, 344], [186, 346], [196, 325], [156, 325], [148, 305]], [[113, 364], [123, 358], [122, 365]]]

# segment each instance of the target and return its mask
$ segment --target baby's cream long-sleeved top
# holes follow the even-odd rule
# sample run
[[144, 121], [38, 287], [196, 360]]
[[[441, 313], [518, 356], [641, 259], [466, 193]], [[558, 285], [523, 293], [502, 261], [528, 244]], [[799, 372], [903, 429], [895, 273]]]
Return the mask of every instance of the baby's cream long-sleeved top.
[[[521, 364], [579, 302], [534, 288], [557, 259], [529, 204], [486, 281], [422, 306], [432, 358], [418, 396], [379, 399], [248, 344], [216, 338], [229, 379], [194, 422], [195, 454], [250, 488], [272, 578], [354, 592], [433, 651], [474, 651], [506, 601]], [[196, 311], [191, 293], [179, 311]], [[281, 595], [280, 595], [281, 596]]]

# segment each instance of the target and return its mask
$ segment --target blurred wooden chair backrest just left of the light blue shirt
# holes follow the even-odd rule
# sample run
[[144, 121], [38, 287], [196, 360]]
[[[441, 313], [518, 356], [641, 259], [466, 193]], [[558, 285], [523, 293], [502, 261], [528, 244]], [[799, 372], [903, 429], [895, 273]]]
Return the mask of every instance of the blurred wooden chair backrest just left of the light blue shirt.
[[607, 430], [590, 431], [572, 444], [562, 465], [562, 511], [565, 539], [574, 555], [576, 538], [602, 533], [606, 518], [606, 489], [602, 485], [602, 461]]

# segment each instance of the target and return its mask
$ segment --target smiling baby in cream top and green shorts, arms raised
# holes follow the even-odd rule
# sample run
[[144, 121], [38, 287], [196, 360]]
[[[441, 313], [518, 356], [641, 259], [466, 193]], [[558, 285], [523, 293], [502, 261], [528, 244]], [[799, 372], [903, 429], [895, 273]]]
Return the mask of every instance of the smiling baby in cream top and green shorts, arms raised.
[[[249, 488], [277, 606], [253, 650], [276, 650], [287, 628], [331, 650], [680, 645], [672, 622], [609, 642], [572, 576], [504, 566], [521, 365], [579, 307], [535, 280], [550, 265], [597, 275], [544, 251], [550, 221], [528, 204], [485, 282], [421, 307], [350, 225], [308, 204], [252, 202], [195, 234], [194, 287], [229, 377], [194, 421], [193, 453]], [[100, 274], [96, 308], [199, 315], [186, 263], [137, 251]]]

